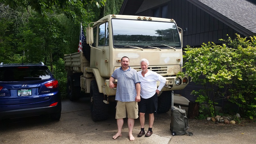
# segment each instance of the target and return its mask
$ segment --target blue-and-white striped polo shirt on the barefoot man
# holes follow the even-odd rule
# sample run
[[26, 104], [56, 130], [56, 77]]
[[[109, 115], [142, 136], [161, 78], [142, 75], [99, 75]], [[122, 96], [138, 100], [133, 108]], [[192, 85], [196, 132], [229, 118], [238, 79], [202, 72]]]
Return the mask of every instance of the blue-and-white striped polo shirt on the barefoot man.
[[135, 84], [140, 83], [137, 71], [130, 68], [130, 66], [125, 71], [120, 67], [116, 68], [111, 77], [117, 79], [115, 100], [122, 102], [135, 101], [137, 95]]

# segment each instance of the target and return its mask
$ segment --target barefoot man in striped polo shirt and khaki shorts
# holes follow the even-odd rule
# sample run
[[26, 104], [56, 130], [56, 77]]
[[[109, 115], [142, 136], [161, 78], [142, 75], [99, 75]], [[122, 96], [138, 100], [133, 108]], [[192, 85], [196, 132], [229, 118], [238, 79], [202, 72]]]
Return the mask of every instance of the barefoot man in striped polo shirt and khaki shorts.
[[126, 118], [129, 130], [129, 139], [134, 140], [132, 129], [134, 119], [138, 118], [138, 103], [140, 101], [140, 77], [137, 71], [129, 66], [129, 58], [124, 56], [121, 59], [121, 67], [117, 68], [109, 78], [109, 88], [114, 88], [113, 82], [117, 79], [116, 88], [116, 122], [118, 132], [113, 139], [122, 136], [124, 118]]

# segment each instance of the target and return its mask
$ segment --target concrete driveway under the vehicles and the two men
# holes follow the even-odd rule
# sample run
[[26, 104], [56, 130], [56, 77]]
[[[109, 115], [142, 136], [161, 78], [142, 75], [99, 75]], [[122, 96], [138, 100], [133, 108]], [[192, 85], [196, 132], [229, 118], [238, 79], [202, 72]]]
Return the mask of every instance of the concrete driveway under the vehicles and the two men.
[[[185, 107], [186, 109], [186, 107]], [[187, 109], [186, 109], [187, 110]], [[80, 98], [71, 102], [62, 100], [60, 121], [51, 121], [49, 116], [38, 116], [8, 121], [0, 121], [0, 143], [6, 144], [215, 144], [250, 143], [256, 144], [256, 123], [214, 124], [206, 120], [189, 120], [189, 132], [193, 136], [172, 136], [170, 132], [170, 112], [157, 114], [150, 137], [137, 137], [140, 132], [139, 119], [133, 128], [134, 141], [129, 141], [127, 119], [124, 119], [122, 137], [116, 140], [112, 136], [117, 132], [115, 110], [112, 109], [108, 120], [94, 122], [91, 119], [89, 98]], [[145, 130], [148, 130], [146, 116]]]

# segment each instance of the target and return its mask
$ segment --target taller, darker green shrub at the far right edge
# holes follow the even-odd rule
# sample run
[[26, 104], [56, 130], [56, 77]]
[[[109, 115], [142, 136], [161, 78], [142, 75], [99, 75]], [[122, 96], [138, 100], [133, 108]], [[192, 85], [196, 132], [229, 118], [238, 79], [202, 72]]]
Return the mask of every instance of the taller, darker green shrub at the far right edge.
[[248, 40], [237, 35], [236, 39], [228, 37], [225, 42], [235, 49], [232, 69], [238, 70], [232, 79], [228, 100], [252, 119], [256, 116], [256, 36]]

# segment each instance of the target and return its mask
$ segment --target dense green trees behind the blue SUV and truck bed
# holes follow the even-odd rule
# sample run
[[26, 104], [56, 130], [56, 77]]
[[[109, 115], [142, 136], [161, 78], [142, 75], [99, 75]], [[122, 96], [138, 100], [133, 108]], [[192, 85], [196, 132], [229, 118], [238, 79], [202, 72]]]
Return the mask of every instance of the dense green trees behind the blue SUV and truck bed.
[[80, 23], [85, 28], [107, 14], [118, 14], [123, 0], [47, 2], [0, 0], [0, 62], [44, 62], [65, 98], [63, 58], [64, 54], [77, 52]]

